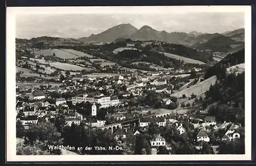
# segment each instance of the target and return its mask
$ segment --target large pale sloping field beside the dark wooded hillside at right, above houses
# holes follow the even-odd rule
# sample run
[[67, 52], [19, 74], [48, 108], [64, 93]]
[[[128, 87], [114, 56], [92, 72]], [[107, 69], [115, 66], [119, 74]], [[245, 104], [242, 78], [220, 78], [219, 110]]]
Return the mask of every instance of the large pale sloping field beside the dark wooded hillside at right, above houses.
[[181, 97], [182, 94], [185, 94], [186, 97], [191, 96], [191, 94], [196, 94], [197, 96], [200, 96], [205, 91], [209, 90], [210, 84], [214, 85], [217, 80], [216, 76], [212, 76], [208, 78], [207, 80], [204, 80], [202, 82], [199, 82], [196, 85], [190, 86], [189, 88], [177, 91], [172, 94], [172, 96]]

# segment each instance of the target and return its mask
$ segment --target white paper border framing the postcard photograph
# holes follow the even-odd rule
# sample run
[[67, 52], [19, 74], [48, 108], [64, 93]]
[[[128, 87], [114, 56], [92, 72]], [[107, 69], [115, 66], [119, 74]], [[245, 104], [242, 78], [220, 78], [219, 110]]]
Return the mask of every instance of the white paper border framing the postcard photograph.
[[[244, 155], [16, 155], [15, 129], [15, 15], [17, 14], [161, 14], [184, 12], [243, 12], [245, 14], [245, 154]], [[251, 160], [251, 7], [147, 6], [147, 7], [7, 7], [7, 161], [185, 161]]]

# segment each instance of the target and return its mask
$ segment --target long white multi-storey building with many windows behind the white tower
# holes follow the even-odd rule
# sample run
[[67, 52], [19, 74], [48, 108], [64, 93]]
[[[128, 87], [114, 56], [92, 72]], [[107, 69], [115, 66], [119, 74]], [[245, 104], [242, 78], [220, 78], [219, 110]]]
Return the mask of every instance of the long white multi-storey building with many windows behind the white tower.
[[82, 94], [81, 96], [76, 96], [72, 98], [72, 104], [81, 103], [81, 102], [90, 102], [98, 103], [101, 105], [101, 108], [106, 108], [110, 106], [117, 106], [119, 100], [111, 100], [110, 97], [88, 97], [88, 94]]

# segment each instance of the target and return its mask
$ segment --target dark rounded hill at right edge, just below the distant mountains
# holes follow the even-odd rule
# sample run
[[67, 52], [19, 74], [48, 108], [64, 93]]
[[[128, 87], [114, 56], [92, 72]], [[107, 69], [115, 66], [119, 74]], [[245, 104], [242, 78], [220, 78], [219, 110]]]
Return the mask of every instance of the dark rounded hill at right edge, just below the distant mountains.
[[198, 50], [207, 50], [212, 52], [228, 52], [236, 48], [236, 46], [243, 45], [244, 42], [233, 40], [227, 36], [219, 35], [212, 37], [207, 42], [196, 46]]

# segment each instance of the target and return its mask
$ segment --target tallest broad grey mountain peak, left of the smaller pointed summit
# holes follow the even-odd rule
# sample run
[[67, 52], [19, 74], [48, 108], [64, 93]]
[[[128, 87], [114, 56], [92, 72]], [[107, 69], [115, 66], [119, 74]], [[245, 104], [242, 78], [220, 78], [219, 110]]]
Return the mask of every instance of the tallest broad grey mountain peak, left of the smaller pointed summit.
[[130, 23], [123, 23], [105, 30], [99, 34], [92, 34], [89, 37], [82, 37], [78, 40], [83, 42], [113, 42], [117, 38], [122, 38], [124, 36], [129, 36], [135, 33], [138, 29], [132, 26]]

